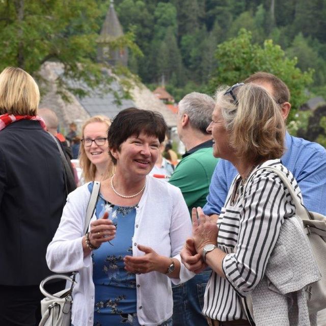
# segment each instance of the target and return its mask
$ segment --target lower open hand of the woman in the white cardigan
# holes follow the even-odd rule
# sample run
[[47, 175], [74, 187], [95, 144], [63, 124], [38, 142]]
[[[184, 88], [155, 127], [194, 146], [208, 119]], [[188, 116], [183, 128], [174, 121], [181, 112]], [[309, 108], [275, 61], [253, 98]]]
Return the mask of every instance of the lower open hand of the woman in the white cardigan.
[[[162, 257], [158, 255], [152, 248], [145, 247], [139, 244], [137, 248], [140, 251], [143, 251], [145, 253], [144, 256], [141, 257], [132, 257], [132, 256], [125, 256], [123, 258], [125, 269], [129, 271], [130, 273], [135, 274], [144, 274], [149, 273], [150, 271], [160, 271], [161, 273], [166, 273], [167, 268], [169, 266], [169, 261], [171, 263], [171, 259], [167, 262], [162, 264]], [[168, 258], [167, 258], [168, 259]], [[163, 265], [166, 265], [164, 268]]]

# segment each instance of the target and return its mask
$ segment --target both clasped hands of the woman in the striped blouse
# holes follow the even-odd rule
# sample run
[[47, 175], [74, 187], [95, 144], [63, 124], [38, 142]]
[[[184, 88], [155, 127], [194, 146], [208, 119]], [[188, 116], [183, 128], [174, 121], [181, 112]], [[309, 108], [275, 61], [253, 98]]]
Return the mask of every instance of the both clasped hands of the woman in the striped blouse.
[[186, 268], [198, 274], [207, 267], [202, 260], [203, 248], [209, 243], [216, 244], [219, 229], [215, 220], [205, 215], [201, 207], [192, 209], [192, 221], [193, 237], [186, 240], [180, 255]]

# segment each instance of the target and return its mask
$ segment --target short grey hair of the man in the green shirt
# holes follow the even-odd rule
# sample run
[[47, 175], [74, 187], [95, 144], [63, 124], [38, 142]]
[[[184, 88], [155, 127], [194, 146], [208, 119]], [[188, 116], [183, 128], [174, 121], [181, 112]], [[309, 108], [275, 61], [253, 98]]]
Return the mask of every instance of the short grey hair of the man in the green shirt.
[[190, 125], [206, 134], [212, 121], [215, 101], [208, 95], [192, 92], [179, 102], [179, 115], [187, 114]]

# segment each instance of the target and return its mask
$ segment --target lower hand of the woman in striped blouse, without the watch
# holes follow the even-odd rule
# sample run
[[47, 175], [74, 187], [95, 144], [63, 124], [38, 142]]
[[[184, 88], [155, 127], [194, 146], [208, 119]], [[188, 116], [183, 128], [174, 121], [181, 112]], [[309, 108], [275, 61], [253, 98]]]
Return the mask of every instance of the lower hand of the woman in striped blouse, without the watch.
[[180, 256], [184, 266], [196, 274], [200, 273], [207, 267], [207, 265], [202, 260], [201, 254], [196, 252], [195, 242], [193, 238], [187, 238], [180, 252]]

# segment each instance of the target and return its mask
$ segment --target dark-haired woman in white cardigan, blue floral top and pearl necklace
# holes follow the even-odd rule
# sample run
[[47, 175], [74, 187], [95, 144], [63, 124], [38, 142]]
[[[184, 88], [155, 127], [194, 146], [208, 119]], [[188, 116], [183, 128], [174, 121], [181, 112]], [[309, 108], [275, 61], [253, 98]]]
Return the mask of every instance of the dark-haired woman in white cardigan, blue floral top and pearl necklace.
[[179, 284], [194, 274], [180, 262], [191, 235], [181, 191], [149, 175], [166, 132], [157, 112], [121, 111], [107, 134], [115, 174], [101, 182], [86, 235], [93, 183], [68, 197], [46, 258], [55, 272], [79, 270], [72, 293], [74, 326], [172, 326], [171, 281]]

